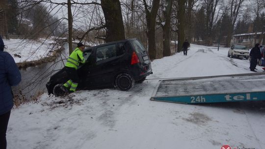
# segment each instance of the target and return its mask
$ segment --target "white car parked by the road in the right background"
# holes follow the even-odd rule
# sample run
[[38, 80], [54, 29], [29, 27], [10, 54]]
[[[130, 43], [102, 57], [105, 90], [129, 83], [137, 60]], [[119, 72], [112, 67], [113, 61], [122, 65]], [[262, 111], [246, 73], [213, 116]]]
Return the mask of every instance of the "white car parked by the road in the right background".
[[227, 54], [228, 57], [249, 58], [249, 49], [241, 45], [233, 45]]

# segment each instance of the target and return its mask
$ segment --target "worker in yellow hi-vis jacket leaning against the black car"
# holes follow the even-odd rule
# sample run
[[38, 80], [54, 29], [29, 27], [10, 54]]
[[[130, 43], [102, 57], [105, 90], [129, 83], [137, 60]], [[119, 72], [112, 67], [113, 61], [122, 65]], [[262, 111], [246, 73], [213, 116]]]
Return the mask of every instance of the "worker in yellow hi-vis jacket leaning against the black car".
[[78, 87], [79, 78], [77, 69], [79, 63], [85, 63], [85, 59], [83, 57], [84, 48], [85, 47], [82, 43], [78, 43], [77, 48], [70, 54], [69, 58], [67, 59], [65, 70], [69, 80], [61, 87], [61, 89], [66, 93], [73, 93]]

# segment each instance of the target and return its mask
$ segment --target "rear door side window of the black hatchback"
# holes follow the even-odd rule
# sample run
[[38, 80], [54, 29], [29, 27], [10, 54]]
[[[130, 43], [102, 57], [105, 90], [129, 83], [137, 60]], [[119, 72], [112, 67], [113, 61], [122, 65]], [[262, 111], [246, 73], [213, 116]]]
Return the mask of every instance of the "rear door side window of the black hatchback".
[[108, 45], [104, 47], [99, 47], [96, 50], [96, 60], [97, 62], [109, 59], [111, 57], [117, 56], [117, 48], [116, 45]]

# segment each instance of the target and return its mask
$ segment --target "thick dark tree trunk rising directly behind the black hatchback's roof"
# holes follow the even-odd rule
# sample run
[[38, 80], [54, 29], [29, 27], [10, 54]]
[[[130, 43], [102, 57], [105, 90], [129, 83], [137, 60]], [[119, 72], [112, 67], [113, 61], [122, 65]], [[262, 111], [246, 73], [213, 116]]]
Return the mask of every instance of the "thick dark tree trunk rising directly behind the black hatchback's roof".
[[101, 0], [106, 21], [106, 42], [125, 39], [120, 0]]

